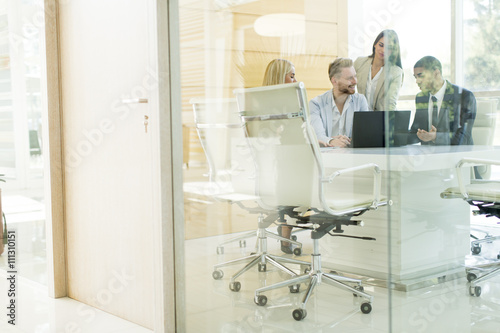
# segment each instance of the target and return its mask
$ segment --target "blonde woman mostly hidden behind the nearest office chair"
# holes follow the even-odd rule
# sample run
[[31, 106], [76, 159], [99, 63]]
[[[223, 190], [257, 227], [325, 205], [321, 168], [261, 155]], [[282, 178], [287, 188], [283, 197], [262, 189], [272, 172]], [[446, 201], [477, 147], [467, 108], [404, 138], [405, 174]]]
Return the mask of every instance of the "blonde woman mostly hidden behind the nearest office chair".
[[[274, 59], [272, 60], [266, 68], [266, 73], [264, 74], [264, 80], [262, 81], [263, 86], [272, 86], [275, 84], [284, 83], [294, 83], [297, 82], [295, 79], [295, 66], [288, 60], [285, 59]], [[278, 226], [278, 234], [281, 237], [290, 239], [292, 234], [292, 226], [285, 223]], [[287, 254], [293, 253], [292, 244], [289, 242], [281, 242], [281, 251]]]

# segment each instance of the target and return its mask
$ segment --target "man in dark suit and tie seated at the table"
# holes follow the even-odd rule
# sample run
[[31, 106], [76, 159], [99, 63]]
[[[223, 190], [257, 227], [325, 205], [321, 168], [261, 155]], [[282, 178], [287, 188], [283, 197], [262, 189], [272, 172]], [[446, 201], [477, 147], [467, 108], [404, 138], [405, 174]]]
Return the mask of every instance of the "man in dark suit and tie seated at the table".
[[416, 114], [410, 130], [410, 143], [474, 144], [474, 94], [445, 80], [441, 62], [432, 56], [417, 61], [413, 73], [421, 92], [415, 98]]

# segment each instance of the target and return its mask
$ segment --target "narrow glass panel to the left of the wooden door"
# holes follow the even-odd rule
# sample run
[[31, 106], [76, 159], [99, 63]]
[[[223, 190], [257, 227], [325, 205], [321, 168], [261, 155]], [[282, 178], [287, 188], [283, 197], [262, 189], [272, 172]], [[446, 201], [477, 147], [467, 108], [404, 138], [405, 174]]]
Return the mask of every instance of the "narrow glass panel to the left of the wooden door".
[[[0, 1], [0, 174], [7, 230], [16, 233], [17, 274], [46, 284], [43, 117], [44, 8]], [[8, 246], [0, 269], [8, 270]]]

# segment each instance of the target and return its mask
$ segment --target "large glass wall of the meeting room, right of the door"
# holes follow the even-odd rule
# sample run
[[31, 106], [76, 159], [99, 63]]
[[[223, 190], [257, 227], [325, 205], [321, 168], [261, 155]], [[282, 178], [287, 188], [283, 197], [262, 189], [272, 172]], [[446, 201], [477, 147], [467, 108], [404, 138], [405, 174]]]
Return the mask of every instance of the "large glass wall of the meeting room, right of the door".
[[189, 332], [494, 332], [496, 12], [179, 1]]

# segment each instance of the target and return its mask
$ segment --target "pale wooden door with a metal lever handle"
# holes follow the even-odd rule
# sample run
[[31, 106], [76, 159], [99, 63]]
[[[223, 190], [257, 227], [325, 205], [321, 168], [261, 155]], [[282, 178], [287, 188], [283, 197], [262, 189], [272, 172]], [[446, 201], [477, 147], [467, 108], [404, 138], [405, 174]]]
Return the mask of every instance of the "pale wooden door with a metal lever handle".
[[62, 1], [59, 24], [68, 295], [153, 328], [155, 1]]

